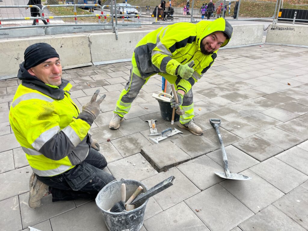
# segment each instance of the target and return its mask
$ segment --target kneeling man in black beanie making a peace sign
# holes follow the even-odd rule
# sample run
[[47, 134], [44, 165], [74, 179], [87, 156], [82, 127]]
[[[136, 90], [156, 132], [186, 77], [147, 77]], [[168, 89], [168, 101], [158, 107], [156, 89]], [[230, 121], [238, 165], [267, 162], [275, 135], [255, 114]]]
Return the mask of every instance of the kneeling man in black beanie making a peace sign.
[[82, 112], [68, 92], [72, 85], [62, 79], [58, 53], [47, 43], [35, 43], [19, 65], [18, 86], [10, 107], [10, 125], [33, 170], [29, 206], [41, 199], [52, 201], [93, 199], [114, 177], [103, 168], [107, 161], [88, 131], [99, 115], [99, 90]]

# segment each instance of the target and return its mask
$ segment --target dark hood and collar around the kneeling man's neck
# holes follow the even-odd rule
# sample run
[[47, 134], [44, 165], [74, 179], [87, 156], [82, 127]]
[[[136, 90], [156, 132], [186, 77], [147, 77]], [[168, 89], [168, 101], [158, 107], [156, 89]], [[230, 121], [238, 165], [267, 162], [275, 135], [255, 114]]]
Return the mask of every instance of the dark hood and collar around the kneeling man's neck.
[[25, 68], [25, 62], [19, 64], [17, 77], [18, 79], [22, 80], [21, 84], [23, 86], [40, 91], [54, 99], [64, 99], [64, 91], [71, 89], [71, 84], [65, 79], [62, 79], [61, 85], [56, 87], [44, 83], [36, 76], [30, 75], [30, 73]]

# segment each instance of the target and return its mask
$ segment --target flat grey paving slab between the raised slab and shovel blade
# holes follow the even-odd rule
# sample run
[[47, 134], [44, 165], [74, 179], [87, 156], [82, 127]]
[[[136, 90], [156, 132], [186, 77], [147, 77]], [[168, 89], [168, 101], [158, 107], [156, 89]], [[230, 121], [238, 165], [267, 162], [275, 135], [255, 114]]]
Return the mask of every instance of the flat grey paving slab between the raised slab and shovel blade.
[[180, 164], [177, 168], [201, 190], [223, 180], [214, 172], [223, 172], [224, 168], [205, 155]]

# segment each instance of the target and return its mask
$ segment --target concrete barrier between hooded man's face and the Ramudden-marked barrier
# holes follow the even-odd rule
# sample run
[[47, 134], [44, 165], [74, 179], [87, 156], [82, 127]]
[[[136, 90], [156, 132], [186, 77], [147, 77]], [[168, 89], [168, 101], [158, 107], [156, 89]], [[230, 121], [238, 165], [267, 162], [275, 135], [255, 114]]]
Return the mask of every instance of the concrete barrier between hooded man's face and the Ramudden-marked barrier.
[[230, 42], [223, 48], [259, 45], [262, 43], [263, 24], [234, 25]]

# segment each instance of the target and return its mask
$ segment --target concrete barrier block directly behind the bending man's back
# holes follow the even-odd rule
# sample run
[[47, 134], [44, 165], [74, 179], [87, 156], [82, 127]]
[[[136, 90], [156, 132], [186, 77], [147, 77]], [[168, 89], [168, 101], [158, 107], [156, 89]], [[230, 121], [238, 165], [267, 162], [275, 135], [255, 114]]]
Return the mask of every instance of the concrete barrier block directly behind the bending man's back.
[[91, 60], [94, 65], [100, 65], [132, 58], [137, 43], [152, 30], [119, 32], [118, 40], [114, 33], [90, 34]]

